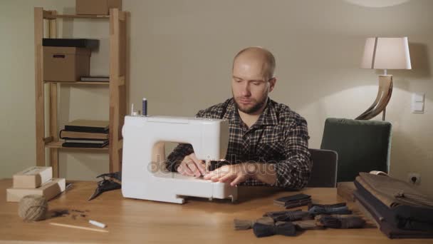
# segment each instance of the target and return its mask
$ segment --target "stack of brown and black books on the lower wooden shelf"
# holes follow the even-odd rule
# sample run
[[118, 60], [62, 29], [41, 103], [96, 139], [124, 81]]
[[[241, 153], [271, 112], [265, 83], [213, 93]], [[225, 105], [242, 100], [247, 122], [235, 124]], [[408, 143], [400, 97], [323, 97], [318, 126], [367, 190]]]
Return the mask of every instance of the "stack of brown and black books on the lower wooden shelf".
[[108, 145], [108, 121], [78, 119], [60, 131], [62, 144], [68, 148], [103, 148]]

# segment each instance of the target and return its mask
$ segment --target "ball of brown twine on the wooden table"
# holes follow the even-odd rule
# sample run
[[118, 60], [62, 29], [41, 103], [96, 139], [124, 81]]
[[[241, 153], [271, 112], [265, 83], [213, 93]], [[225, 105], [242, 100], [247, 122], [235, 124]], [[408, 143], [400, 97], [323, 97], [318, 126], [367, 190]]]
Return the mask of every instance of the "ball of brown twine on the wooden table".
[[45, 219], [48, 203], [42, 195], [25, 195], [19, 201], [18, 215], [26, 221]]

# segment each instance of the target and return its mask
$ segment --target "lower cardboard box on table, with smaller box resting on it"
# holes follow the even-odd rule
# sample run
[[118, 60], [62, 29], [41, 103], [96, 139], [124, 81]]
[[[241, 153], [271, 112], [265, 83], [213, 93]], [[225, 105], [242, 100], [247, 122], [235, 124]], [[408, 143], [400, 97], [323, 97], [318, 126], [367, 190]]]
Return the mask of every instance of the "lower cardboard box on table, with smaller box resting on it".
[[46, 200], [54, 198], [66, 188], [64, 178], [53, 178], [52, 181], [41, 185], [39, 188], [9, 188], [6, 189], [6, 201], [19, 202], [24, 195], [43, 195]]

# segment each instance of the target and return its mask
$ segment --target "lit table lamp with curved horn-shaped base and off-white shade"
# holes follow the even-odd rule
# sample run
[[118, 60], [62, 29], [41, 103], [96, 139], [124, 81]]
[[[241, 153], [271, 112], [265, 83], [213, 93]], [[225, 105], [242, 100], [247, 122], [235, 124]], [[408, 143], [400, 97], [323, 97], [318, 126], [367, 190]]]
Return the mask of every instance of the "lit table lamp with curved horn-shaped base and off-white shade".
[[385, 112], [392, 93], [392, 75], [387, 74], [387, 69], [411, 69], [409, 44], [407, 37], [385, 38], [372, 37], [365, 40], [364, 56], [361, 68], [380, 68], [384, 74], [379, 76], [379, 91], [377, 97], [364, 113], [355, 119], [369, 120], [382, 113], [382, 121], [385, 121]]

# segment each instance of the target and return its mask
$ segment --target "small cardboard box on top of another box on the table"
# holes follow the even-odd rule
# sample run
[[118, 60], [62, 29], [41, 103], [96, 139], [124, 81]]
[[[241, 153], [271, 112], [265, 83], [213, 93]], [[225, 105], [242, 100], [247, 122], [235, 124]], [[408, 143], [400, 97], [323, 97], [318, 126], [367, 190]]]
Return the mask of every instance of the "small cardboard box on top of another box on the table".
[[14, 188], [38, 188], [53, 178], [52, 167], [30, 167], [14, 174]]

